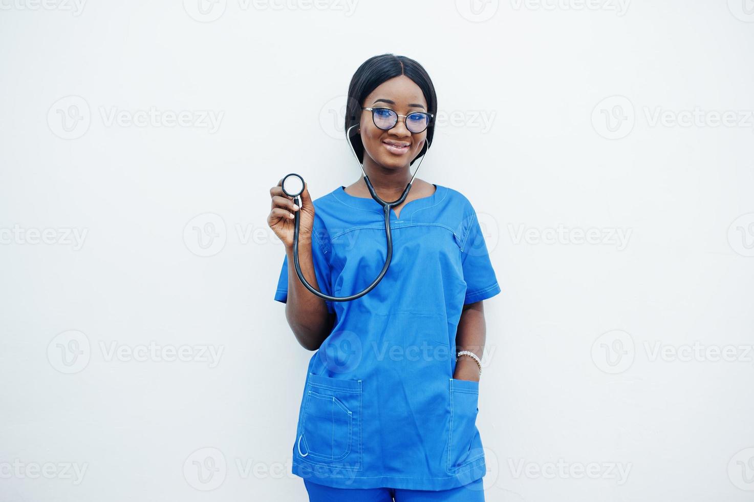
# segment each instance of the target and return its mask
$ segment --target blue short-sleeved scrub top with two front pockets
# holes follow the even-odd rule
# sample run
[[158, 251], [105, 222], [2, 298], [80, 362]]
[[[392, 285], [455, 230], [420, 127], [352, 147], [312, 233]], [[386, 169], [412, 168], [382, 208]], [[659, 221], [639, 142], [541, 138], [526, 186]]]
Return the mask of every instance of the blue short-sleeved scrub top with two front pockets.
[[[336, 488], [446, 490], [486, 473], [476, 426], [479, 383], [452, 377], [464, 304], [500, 290], [476, 211], [460, 192], [391, 210], [393, 258], [382, 281], [326, 302], [333, 331], [311, 356], [293, 470]], [[313, 201], [320, 291], [362, 291], [385, 264], [385, 217], [344, 187]], [[298, 280], [298, 278], [296, 278]], [[283, 260], [274, 299], [288, 297]]]

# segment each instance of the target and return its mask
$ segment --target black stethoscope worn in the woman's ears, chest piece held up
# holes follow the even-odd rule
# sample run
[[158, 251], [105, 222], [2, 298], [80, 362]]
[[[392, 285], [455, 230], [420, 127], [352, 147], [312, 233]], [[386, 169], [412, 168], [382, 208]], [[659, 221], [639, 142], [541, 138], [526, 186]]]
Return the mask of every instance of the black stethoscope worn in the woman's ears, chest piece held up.
[[[359, 291], [357, 294], [351, 294], [351, 296], [348, 297], [331, 297], [328, 294], [324, 294], [321, 291], [317, 291], [314, 286], [309, 284], [304, 274], [301, 271], [301, 265], [299, 264], [299, 214], [301, 211], [294, 211], [293, 217], [294, 217], [294, 223], [293, 223], [293, 264], [296, 266], [296, 275], [299, 276], [299, 279], [301, 280], [302, 284], [305, 285], [305, 287], [311, 291], [313, 294], [316, 294], [318, 297], [323, 298], [324, 300], [328, 301], [351, 301], [356, 300], [357, 298], [363, 297], [363, 295], [369, 293], [369, 291], [372, 291], [376, 285], [379, 284], [380, 281], [382, 281], [382, 278], [385, 276], [385, 273], [388, 271], [388, 266], [390, 266], [390, 261], [393, 257], [393, 236], [391, 235], [390, 230], [390, 211], [395, 206], [399, 205], [401, 202], [406, 200], [406, 196], [409, 195], [409, 190], [411, 189], [411, 182], [414, 180], [414, 177], [416, 176], [417, 171], [419, 170], [419, 167], [421, 167], [421, 162], [424, 162], [425, 156], [427, 156], [427, 152], [429, 151], [430, 147], [430, 141], [427, 141], [427, 150], [425, 151], [425, 154], [421, 156], [421, 160], [419, 161], [419, 165], [416, 166], [416, 171], [414, 171], [413, 176], [409, 180], [409, 184], [406, 185], [406, 189], [403, 189], [403, 194], [401, 196], [394, 200], [393, 202], [386, 202], [380, 198], [380, 196], [377, 195], [377, 192], [375, 192], [374, 186], [372, 186], [372, 182], [369, 181], [369, 177], [366, 175], [366, 172], [364, 171], [364, 165], [359, 160], [359, 157], [356, 155], [356, 150], [354, 149], [354, 145], [351, 143], [351, 137], [349, 136], [349, 133], [351, 132], [351, 129], [356, 127], [357, 124], [351, 125], [350, 128], [348, 128], [347, 131], [345, 131], [345, 139], [348, 141], [348, 146], [351, 146], [351, 152], [353, 152], [354, 157], [356, 157], [356, 161], [359, 163], [359, 166], [361, 168], [361, 172], [364, 174], [364, 181], [366, 182], [366, 188], [369, 189], [369, 193], [372, 195], [372, 199], [375, 199], [375, 201], [379, 202], [380, 205], [382, 205], [383, 210], [385, 211], [385, 236], [387, 236], [388, 240], [388, 256], [385, 258], [385, 265], [382, 266], [382, 270], [379, 273], [379, 276], [377, 276], [377, 279], [372, 282], [369, 286], [367, 286], [363, 291]], [[304, 178], [302, 178], [299, 174], [291, 173], [287, 174], [286, 177], [283, 178], [282, 188], [283, 192], [289, 197], [293, 197], [293, 203], [301, 207], [301, 201], [299, 199], [299, 196], [304, 191]]]

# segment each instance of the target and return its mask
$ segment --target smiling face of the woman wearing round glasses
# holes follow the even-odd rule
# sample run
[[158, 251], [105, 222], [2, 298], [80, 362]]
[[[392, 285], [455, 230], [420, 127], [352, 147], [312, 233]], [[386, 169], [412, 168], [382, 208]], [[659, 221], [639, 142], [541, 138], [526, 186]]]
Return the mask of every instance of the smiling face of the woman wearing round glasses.
[[[392, 109], [398, 115], [428, 112], [424, 93], [406, 75], [398, 75], [382, 82], [366, 97], [362, 106], [385, 107]], [[398, 117], [394, 128], [385, 131], [375, 125], [371, 111], [361, 110], [359, 127], [365, 149], [365, 168], [370, 163], [388, 169], [407, 168], [409, 162], [415, 159], [425, 144], [427, 130], [414, 134], [406, 129], [405, 120], [406, 117]]]

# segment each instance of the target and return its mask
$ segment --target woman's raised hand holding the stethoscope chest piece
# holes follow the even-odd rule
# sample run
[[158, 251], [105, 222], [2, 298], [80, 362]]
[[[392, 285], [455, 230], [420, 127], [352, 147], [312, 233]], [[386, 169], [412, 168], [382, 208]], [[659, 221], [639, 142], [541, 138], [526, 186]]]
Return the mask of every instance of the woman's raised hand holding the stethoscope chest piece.
[[293, 232], [296, 229], [293, 220], [293, 212], [299, 211], [299, 242], [311, 242], [311, 229], [314, 227], [314, 204], [309, 196], [309, 189], [304, 183], [304, 192], [301, 199], [301, 208], [293, 204], [293, 197], [289, 197], [283, 191], [283, 178], [276, 186], [270, 189], [272, 210], [267, 217], [267, 224], [275, 235], [283, 241], [287, 249], [293, 248]]

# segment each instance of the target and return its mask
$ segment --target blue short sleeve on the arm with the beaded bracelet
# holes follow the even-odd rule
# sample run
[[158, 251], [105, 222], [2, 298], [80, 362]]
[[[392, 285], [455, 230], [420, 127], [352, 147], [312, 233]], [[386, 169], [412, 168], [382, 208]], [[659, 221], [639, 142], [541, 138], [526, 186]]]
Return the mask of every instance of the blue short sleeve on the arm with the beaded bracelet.
[[500, 285], [489, 260], [487, 245], [477, 218], [477, 212], [470, 208], [464, 218], [465, 237], [461, 247], [466, 297], [464, 305], [494, 297], [500, 293]]

